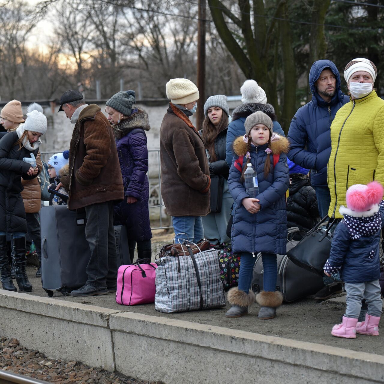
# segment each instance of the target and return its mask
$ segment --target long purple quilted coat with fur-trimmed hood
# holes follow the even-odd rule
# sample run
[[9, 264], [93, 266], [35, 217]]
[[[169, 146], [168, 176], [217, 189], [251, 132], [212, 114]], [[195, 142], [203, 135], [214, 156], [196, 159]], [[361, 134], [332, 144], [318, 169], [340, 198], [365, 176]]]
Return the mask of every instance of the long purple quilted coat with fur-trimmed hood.
[[[126, 224], [129, 240], [152, 238], [149, 222], [148, 148], [145, 131], [149, 131], [148, 115], [138, 109], [113, 126], [124, 184], [125, 199], [114, 208], [114, 224]], [[127, 197], [137, 202], [128, 204]]]

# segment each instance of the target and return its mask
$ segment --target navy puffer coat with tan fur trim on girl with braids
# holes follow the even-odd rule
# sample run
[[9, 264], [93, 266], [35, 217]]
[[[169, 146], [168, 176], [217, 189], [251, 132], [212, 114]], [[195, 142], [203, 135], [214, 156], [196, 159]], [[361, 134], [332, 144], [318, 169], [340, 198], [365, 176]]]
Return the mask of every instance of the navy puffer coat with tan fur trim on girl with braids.
[[[241, 172], [232, 164], [229, 172], [229, 191], [235, 200], [232, 225], [232, 250], [233, 252], [266, 252], [285, 255], [287, 241], [287, 218], [285, 205], [285, 192], [289, 187], [289, 171], [286, 152], [289, 142], [285, 137], [279, 137], [273, 141], [271, 149], [274, 154], [280, 154], [280, 158], [273, 167], [273, 156], [268, 155], [263, 146], [252, 146], [251, 163], [257, 172], [260, 194], [256, 196], [260, 200], [261, 209], [257, 214], [250, 214], [242, 204], [244, 198], [249, 197], [245, 192], [245, 183], [240, 181]], [[233, 143], [235, 159], [244, 156], [247, 152], [247, 144], [243, 136], [238, 137]], [[270, 156], [271, 169], [268, 176], [264, 177], [264, 163]], [[243, 167], [246, 167], [244, 156]]]

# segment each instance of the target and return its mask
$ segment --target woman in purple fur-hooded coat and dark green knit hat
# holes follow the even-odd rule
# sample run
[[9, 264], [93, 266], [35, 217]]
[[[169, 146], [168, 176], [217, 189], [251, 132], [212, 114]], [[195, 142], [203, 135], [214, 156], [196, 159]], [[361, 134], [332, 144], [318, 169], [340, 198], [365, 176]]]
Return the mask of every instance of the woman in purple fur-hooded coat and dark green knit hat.
[[145, 131], [149, 131], [148, 114], [133, 109], [134, 91], [114, 94], [105, 109], [116, 138], [125, 199], [115, 206], [114, 223], [126, 224], [131, 260], [137, 243], [140, 258], [151, 259], [151, 225], [149, 222], [148, 148]]

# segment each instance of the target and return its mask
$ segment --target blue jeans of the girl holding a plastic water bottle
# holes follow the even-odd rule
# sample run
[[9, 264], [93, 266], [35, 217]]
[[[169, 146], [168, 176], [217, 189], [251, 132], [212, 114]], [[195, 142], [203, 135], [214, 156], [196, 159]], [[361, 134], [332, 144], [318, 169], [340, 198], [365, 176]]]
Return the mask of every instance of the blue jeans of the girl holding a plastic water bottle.
[[[252, 282], [253, 265], [256, 261], [252, 253], [244, 252], [240, 258], [239, 285], [241, 291], [248, 293]], [[262, 253], [263, 261], [263, 290], [275, 292], [277, 280], [277, 258], [273, 253]]]

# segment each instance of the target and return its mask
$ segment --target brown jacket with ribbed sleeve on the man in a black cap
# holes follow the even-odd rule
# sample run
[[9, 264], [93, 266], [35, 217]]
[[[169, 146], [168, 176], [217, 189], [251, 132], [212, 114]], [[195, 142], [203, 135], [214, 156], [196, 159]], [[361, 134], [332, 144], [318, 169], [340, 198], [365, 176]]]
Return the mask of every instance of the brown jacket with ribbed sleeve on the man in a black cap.
[[124, 199], [113, 130], [96, 104], [79, 115], [70, 143], [69, 175], [60, 181], [69, 192], [71, 210]]

